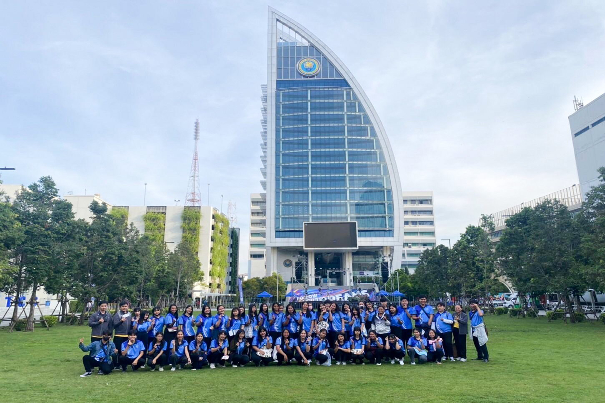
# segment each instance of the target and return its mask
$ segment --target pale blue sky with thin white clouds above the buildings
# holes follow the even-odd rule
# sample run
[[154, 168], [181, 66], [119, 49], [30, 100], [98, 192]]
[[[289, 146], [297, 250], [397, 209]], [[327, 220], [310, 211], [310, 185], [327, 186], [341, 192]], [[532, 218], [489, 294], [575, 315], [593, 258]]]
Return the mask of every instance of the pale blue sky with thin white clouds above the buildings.
[[267, 5], [364, 88], [402, 189], [434, 192], [439, 242], [578, 182], [567, 117], [605, 92], [598, 0], [4, 2], [1, 179], [114, 205], [142, 205], [147, 183], [147, 205], [182, 205], [198, 118], [201, 199], [237, 205], [246, 272]]

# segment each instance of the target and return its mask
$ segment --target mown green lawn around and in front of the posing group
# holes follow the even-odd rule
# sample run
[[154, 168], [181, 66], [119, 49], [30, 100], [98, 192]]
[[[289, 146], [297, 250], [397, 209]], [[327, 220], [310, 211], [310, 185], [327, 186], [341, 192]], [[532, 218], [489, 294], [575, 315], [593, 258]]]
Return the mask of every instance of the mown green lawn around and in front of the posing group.
[[[490, 363], [83, 373], [87, 326], [0, 330], [2, 401], [603, 402], [605, 326], [486, 317]], [[474, 357], [472, 341], [469, 358]], [[250, 364], [249, 364], [250, 365]]]

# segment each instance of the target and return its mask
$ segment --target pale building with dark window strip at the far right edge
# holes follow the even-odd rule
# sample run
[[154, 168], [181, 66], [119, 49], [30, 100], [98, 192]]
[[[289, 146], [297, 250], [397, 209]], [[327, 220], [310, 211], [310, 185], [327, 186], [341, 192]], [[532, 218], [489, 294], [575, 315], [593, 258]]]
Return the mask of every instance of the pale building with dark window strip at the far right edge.
[[597, 169], [605, 166], [605, 94], [569, 116], [575, 164], [583, 200], [599, 183]]

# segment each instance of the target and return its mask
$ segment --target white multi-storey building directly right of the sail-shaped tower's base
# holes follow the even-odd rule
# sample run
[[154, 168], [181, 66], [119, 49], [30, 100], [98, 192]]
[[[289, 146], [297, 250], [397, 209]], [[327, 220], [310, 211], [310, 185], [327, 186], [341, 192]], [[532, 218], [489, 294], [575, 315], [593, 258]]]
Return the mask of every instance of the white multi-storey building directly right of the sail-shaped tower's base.
[[402, 192], [404, 251], [401, 268], [413, 273], [420, 254], [436, 245], [433, 192]]

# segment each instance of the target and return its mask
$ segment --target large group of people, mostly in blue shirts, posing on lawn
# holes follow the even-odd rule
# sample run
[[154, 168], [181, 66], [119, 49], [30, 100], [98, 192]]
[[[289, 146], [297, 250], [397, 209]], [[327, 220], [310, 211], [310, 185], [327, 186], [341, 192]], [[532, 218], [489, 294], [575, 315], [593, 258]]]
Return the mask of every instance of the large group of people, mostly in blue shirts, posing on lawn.
[[[439, 302], [436, 308], [420, 295], [416, 305], [406, 297], [399, 305], [386, 298], [374, 306], [371, 301], [324, 301], [302, 303], [300, 311], [292, 304], [284, 307], [274, 302], [269, 308], [250, 304], [226, 312], [217, 306], [213, 314], [208, 305], [194, 317], [194, 309], [186, 306], [179, 314], [176, 305], [151, 312], [140, 308], [128, 309], [120, 303], [111, 315], [107, 303], [100, 301], [99, 311], [88, 320], [91, 343], [79, 347], [88, 355], [82, 357], [85, 373], [91, 376], [96, 367], [100, 375], [113, 370], [126, 372], [149, 367], [149, 370], [171, 371], [272, 364], [320, 366], [405, 364], [408, 356], [412, 365], [444, 361], [466, 361], [468, 323], [477, 350], [477, 358], [489, 362], [487, 332], [483, 311], [477, 300], [469, 303], [468, 314], [462, 305], [454, 312]], [[113, 340], [112, 340], [113, 335]], [[454, 352], [454, 347], [456, 352]]]

